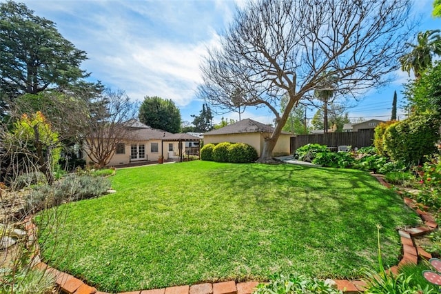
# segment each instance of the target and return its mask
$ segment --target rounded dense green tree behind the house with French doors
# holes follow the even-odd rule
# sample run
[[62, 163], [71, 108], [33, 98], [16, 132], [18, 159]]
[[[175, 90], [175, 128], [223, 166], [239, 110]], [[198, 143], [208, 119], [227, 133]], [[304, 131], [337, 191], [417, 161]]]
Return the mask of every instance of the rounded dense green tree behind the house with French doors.
[[139, 120], [152, 128], [170, 133], [179, 133], [181, 130], [181, 112], [171, 99], [146, 96], [139, 108]]

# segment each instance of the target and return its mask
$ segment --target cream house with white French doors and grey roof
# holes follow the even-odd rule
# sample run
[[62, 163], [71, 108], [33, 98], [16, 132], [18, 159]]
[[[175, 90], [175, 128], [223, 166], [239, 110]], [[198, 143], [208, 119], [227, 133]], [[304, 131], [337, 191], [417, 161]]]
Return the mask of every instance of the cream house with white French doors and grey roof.
[[[121, 164], [130, 164], [134, 161], [158, 161], [162, 155], [165, 160], [170, 157], [176, 157], [185, 153], [185, 146], [173, 137], [175, 135], [186, 134], [172, 134], [164, 130], [158, 130], [146, 126], [139, 121], [131, 121], [131, 129], [126, 138], [121, 138], [120, 142], [116, 144], [114, 155], [110, 159], [107, 166], [119, 166]], [[170, 138], [170, 141], [165, 141], [165, 138]], [[192, 139], [198, 139], [192, 137]], [[181, 151], [179, 147], [181, 146]], [[86, 162], [90, 159], [85, 158]]]

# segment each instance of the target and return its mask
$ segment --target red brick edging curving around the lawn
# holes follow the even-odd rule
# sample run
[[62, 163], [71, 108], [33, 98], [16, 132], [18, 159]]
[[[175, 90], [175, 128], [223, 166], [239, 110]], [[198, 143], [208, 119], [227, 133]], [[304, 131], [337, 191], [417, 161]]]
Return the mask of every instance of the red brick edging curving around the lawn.
[[[390, 185], [385, 182], [380, 175], [372, 175], [373, 177], [376, 177], [380, 184], [390, 188]], [[404, 203], [418, 213], [424, 222], [424, 226], [398, 231], [398, 234], [400, 235], [400, 242], [402, 244], [403, 256], [397, 266], [392, 266], [387, 270], [387, 272], [391, 271], [394, 274], [398, 274], [398, 268], [404, 264], [418, 264], [418, 258], [431, 259], [432, 256], [430, 253], [424, 251], [424, 249], [420, 246], [415, 245], [413, 242], [413, 237], [431, 233], [435, 230], [435, 228], [438, 227], [438, 224], [435, 222], [435, 218], [429, 213], [418, 209], [417, 203], [413, 199], [404, 197]], [[24, 225], [25, 230], [28, 232], [28, 242], [26, 246], [29, 249], [32, 249], [34, 252], [34, 255], [31, 257], [32, 264], [35, 264], [34, 267], [36, 268], [52, 273], [56, 278], [56, 284], [59, 286], [61, 291], [69, 294], [108, 294], [105, 292], [96, 291], [96, 288], [88, 286], [73, 275], [58, 271], [57, 269], [48, 266], [48, 264], [41, 262], [39, 244], [36, 239], [37, 226], [32, 222], [31, 216], [25, 218]], [[31, 248], [32, 246], [33, 248]], [[334, 280], [334, 282], [336, 282], [338, 290], [346, 294], [363, 292], [366, 286], [366, 282], [363, 280]], [[173, 286], [152, 290], [121, 292], [119, 294], [252, 294], [258, 284], [260, 284], [260, 282], [236, 283], [235, 281], [227, 281], [195, 284], [192, 286]]]

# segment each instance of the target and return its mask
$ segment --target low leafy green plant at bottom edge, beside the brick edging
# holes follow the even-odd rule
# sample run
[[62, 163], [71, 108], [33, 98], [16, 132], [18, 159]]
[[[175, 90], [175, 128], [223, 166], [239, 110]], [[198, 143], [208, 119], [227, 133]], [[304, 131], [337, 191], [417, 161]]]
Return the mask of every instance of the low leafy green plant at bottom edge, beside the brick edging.
[[317, 279], [303, 275], [280, 275], [268, 284], [258, 284], [254, 294], [342, 293]]

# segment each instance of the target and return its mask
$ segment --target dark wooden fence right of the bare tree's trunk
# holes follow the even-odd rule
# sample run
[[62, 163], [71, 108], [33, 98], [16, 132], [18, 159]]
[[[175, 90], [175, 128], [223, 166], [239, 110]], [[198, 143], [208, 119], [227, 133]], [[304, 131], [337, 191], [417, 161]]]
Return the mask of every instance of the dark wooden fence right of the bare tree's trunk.
[[326, 145], [328, 147], [342, 145], [352, 146], [352, 148], [367, 147], [373, 143], [373, 129], [362, 129], [358, 130], [358, 132], [296, 135], [291, 137], [291, 154], [296, 153], [297, 148], [310, 143]]

